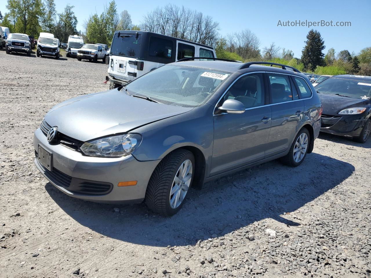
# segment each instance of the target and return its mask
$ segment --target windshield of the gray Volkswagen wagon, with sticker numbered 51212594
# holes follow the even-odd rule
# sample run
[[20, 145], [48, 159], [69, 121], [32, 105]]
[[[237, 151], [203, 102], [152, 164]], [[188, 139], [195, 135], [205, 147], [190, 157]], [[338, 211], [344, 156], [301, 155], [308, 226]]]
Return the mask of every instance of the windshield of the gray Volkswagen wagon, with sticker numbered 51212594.
[[130, 82], [130, 95], [150, 97], [161, 103], [195, 107], [206, 102], [231, 75], [197, 67], [165, 65]]

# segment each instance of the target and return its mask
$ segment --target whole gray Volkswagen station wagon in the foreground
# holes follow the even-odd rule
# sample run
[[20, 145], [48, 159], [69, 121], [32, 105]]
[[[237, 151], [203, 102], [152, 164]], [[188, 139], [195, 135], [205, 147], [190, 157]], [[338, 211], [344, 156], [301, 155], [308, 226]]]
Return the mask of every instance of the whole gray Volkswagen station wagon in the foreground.
[[322, 109], [308, 77], [192, 59], [54, 106], [34, 135], [39, 171], [75, 198], [173, 215], [192, 186], [277, 158], [299, 166], [312, 152]]

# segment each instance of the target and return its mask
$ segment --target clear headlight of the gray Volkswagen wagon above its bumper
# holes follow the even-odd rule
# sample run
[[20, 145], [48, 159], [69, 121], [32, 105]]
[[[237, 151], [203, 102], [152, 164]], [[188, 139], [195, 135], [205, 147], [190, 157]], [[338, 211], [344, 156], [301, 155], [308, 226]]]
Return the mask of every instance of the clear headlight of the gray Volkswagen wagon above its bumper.
[[85, 155], [119, 157], [134, 152], [141, 141], [142, 136], [140, 134], [127, 133], [85, 142], [80, 149]]

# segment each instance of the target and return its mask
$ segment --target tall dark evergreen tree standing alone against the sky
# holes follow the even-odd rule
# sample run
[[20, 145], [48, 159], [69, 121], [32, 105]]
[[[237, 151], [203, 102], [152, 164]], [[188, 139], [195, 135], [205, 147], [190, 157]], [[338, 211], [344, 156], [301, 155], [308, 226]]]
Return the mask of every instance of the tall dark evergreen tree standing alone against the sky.
[[309, 31], [306, 39], [301, 60], [305, 70], [314, 71], [316, 66], [321, 66], [324, 62], [324, 54], [322, 53], [322, 50], [325, 49], [324, 40], [321, 34], [313, 29]]

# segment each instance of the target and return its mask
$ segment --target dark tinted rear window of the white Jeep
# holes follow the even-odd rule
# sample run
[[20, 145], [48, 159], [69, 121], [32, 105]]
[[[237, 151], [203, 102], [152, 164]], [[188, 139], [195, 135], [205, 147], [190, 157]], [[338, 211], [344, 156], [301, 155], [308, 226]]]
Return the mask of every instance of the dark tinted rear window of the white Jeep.
[[114, 39], [111, 45], [111, 55], [139, 57], [139, 48], [141, 43], [141, 35], [138, 35], [138, 39], [135, 38], [135, 34], [120, 34], [114, 35]]

